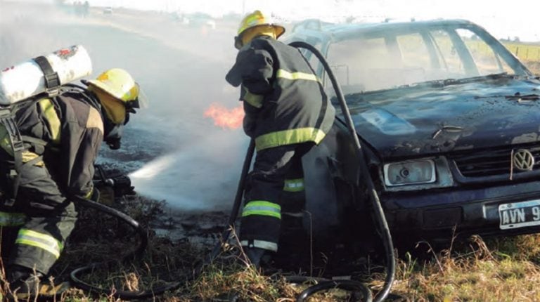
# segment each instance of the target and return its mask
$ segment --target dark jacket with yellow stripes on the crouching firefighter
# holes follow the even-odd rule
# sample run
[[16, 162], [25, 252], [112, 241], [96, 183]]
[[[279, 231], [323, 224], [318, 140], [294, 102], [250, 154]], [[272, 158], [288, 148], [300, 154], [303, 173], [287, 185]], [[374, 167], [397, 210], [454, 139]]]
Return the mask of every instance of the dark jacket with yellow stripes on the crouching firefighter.
[[[23, 151], [23, 164], [32, 161], [36, 166], [46, 165], [51, 178], [68, 198], [91, 196], [94, 161], [103, 140], [101, 110], [84, 98], [89, 96], [71, 91], [32, 101], [15, 112], [15, 122], [28, 145]], [[6, 129], [1, 125], [0, 147], [13, 157]], [[24, 171], [27, 170], [21, 173], [22, 182], [32, 182], [25, 180]]]

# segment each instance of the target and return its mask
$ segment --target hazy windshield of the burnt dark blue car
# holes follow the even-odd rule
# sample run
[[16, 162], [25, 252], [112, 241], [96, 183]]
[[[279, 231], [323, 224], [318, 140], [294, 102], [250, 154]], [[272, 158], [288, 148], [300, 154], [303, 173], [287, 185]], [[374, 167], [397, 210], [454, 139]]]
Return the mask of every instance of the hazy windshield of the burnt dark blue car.
[[[343, 92], [359, 93], [425, 81], [517, 74], [508, 53], [467, 28], [367, 32], [333, 41], [327, 60]], [[499, 45], [500, 46], [500, 45]], [[327, 88], [330, 81], [326, 81]]]

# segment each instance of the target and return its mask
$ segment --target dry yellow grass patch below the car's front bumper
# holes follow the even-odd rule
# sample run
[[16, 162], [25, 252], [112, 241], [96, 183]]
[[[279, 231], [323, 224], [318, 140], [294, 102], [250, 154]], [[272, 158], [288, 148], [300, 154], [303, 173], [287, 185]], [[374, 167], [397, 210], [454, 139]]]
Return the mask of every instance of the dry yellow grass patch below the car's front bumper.
[[539, 235], [472, 237], [468, 248], [430, 261], [400, 260], [394, 293], [412, 301], [539, 301]]

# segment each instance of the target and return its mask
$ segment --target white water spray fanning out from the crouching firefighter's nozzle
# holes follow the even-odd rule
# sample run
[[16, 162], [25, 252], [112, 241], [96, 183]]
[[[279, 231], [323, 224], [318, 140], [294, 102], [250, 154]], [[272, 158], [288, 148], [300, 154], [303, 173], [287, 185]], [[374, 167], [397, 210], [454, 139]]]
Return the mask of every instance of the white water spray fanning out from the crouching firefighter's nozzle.
[[174, 209], [229, 209], [248, 143], [235, 133], [217, 133], [162, 155], [130, 173], [131, 182], [140, 195], [166, 200]]

